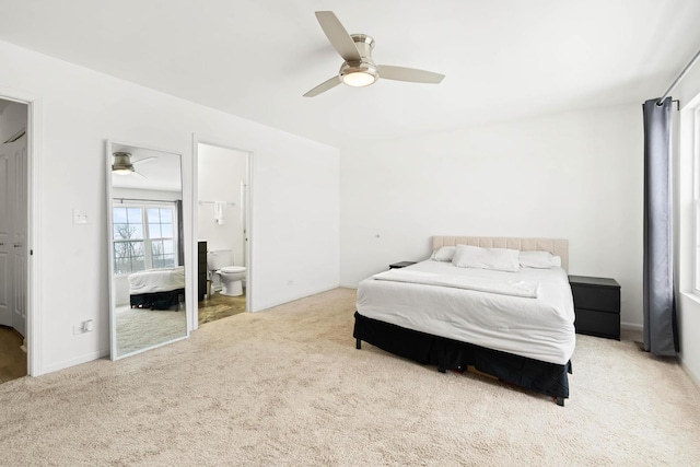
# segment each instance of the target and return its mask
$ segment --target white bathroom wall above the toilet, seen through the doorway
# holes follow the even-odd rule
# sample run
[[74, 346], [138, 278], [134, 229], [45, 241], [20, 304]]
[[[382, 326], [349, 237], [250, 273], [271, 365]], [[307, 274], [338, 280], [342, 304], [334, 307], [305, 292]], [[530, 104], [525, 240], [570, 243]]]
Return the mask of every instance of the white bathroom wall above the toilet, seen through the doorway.
[[[197, 147], [197, 237], [207, 241], [209, 250], [231, 249], [236, 266], [246, 266], [242, 189], [247, 183], [246, 157], [242, 151], [202, 143]], [[214, 219], [213, 201], [226, 202], [223, 224]]]

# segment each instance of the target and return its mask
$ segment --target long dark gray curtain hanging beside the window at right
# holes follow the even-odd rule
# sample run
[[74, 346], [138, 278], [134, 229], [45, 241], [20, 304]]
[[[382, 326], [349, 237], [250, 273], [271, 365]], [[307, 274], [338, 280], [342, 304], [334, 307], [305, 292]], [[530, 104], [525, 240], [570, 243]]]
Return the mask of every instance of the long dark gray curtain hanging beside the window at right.
[[670, 97], [644, 109], [644, 350], [676, 355], [674, 297], [673, 184], [670, 172]]

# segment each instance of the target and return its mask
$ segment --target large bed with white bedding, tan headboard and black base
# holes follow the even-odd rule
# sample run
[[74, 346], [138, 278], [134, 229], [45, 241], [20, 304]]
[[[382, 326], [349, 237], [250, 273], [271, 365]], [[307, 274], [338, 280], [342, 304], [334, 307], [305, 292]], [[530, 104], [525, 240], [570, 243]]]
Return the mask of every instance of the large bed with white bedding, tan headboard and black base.
[[[357, 348], [365, 341], [443, 373], [474, 369], [563, 406], [575, 347], [568, 241], [435, 236], [432, 246], [431, 258], [458, 248], [464, 255], [452, 259], [467, 258], [471, 267], [456, 267], [438, 255], [443, 260], [420, 261], [360, 282]], [[485, 252], [508, 252], [508, 267], [513, 255], [538, 259], [522, 259], [529, 267], [517, 264], [508, 271], [482, 268], [478, 261], [472, 267], [471, 255], [478, 259]], [[542, 265], [542, 258], [551, 258], [550, 264]]]

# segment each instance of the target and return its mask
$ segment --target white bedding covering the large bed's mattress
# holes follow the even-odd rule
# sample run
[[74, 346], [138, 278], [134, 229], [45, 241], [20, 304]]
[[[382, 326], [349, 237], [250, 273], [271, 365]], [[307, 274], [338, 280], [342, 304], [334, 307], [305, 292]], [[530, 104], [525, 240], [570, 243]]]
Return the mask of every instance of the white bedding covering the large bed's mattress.
[[573, 299], [563, 269], [523, 268], [520, 272], [503, 272], [457, 268], [450, 262], [431, 260], [404, 269], [404, 277], [450, 275], [455, 282], [522, 281], [537, 284], [537, 297], [377, 280], [373, 276], [358, 287], [358, 313], [544, 362], [565, 364], [571, 359], [575, 347]]

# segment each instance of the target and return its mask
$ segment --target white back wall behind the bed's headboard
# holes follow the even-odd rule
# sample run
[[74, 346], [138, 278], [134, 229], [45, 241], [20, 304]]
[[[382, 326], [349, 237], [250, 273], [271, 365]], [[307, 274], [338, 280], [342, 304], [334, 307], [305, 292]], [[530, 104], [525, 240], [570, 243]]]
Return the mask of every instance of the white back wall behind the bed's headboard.
[[432, 235], [561, 237], [570, 273], [615, 278], [639, 327], [642, 135], [628, 105], [345, 148], [340, 282], [427, 258]]

